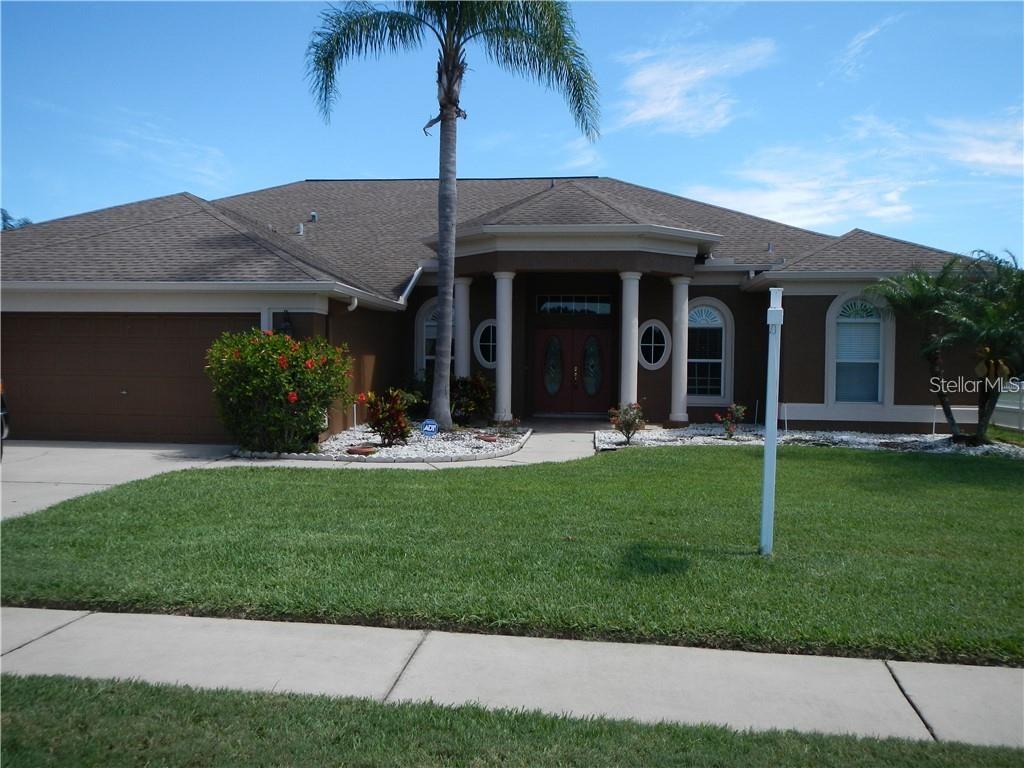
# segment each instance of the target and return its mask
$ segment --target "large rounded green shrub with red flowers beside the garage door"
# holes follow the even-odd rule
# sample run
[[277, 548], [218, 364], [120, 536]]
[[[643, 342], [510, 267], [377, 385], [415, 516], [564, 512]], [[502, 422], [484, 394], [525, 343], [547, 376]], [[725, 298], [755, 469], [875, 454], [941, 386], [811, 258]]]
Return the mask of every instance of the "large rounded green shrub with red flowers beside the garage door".
[[224, 426], [247, 451], [308, 451], [331, 404], [351, 402], [351, 358], [322, 337], [224, 333], [206, 353], [206, 371]]

